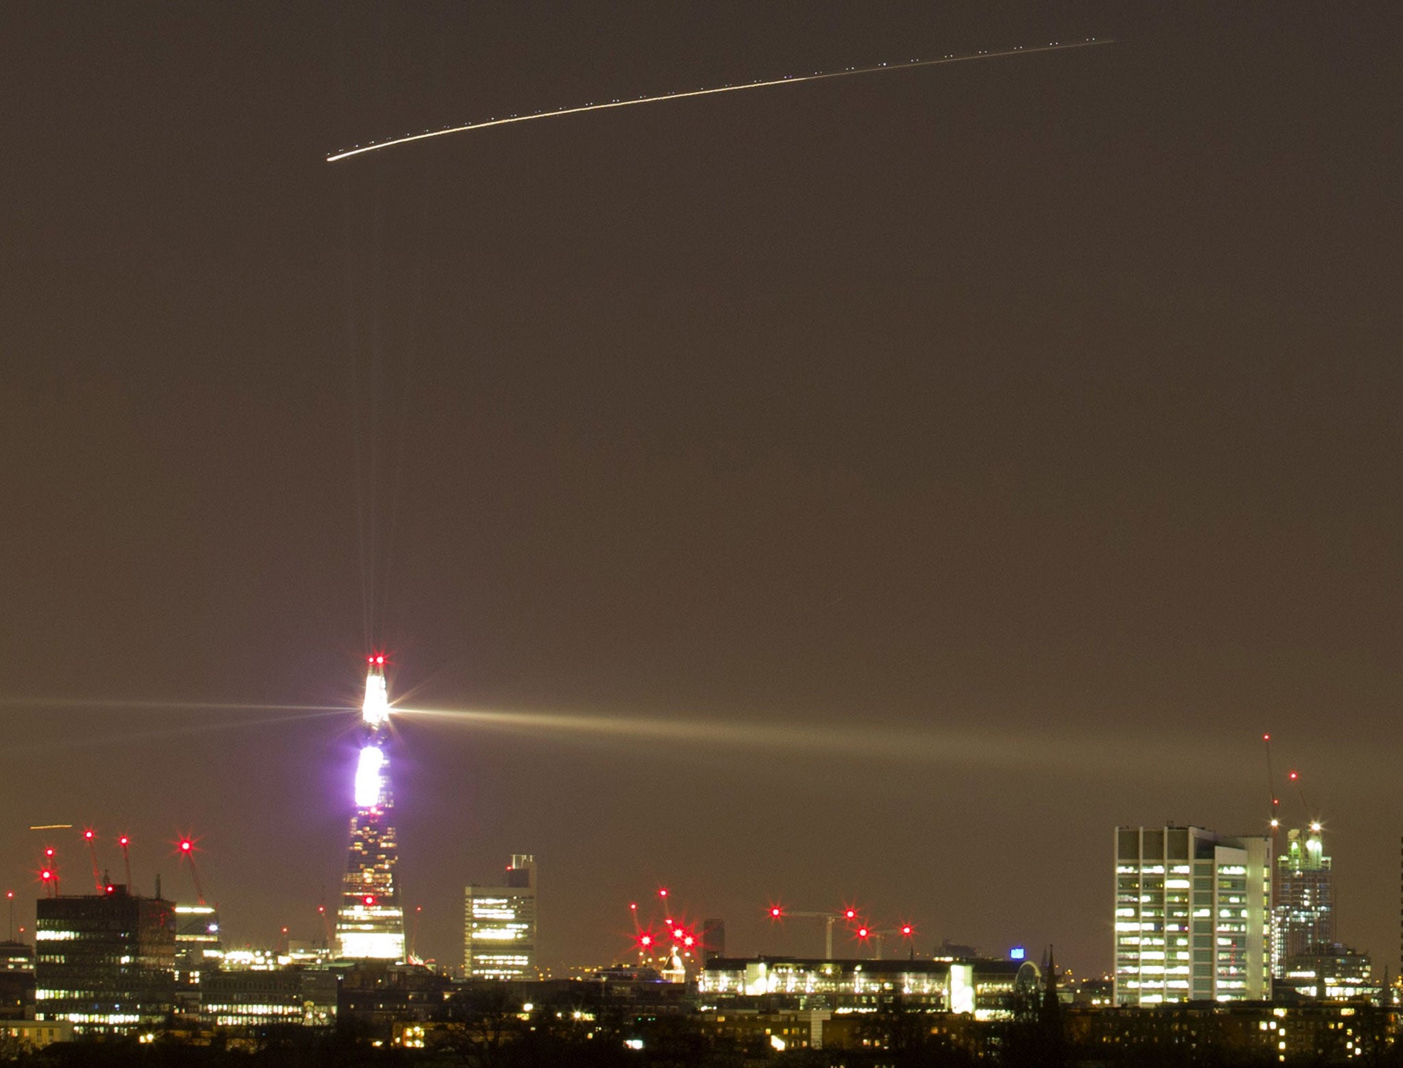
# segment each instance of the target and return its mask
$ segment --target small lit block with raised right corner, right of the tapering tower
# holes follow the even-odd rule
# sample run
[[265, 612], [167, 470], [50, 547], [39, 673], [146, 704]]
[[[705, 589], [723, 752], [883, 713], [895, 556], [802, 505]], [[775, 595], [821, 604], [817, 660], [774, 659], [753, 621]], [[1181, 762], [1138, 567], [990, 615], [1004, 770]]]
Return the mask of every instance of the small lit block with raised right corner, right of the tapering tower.
[[512, 854], [501, 886], [463, 891], [463, 974], [536, 978], [536, 859]]

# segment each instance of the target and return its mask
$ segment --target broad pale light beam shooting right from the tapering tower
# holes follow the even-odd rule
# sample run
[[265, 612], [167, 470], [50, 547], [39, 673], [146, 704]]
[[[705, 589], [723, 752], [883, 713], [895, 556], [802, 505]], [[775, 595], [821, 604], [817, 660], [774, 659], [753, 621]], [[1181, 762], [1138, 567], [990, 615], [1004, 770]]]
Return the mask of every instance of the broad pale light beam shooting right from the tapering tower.
[[[1026, 729], [892, 727], [873, 723], [866, 715], [854, 718], [850, 726], [398, 706], [394, 715], [505, 733], [544, 734], [554, 741], [570, 737], [638, 741], [664, 746], [669, 751], [678, 751], [679, 747], [689, 751], [707, 747], [742, 748], [769, 751], [790, 760], [870, 760], [1014, 772], [1103, 774], [1111, 778], [1143, 778], [1146, 774], [1139, 764], [1127, 760], [1129, 741], [1118, 732], [1073, 734]], [[1138, 741], [1148, 740], [1139, 739], [1136, 744]], [[1183, 776], [1184, 768], [1193, 768], [1194, 774], [1212, 781], [1235, 767], [1230, 751], [1222, 750], [1221, 758], [1205, 755], [1201, 740], [1187, 743], [1173, 736], [1155, 736], [1149, 744], [1164, 755], [1164, 767], [1173, 769], [1164, 778]]]

